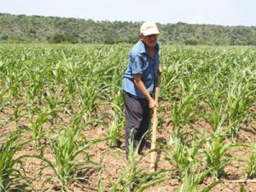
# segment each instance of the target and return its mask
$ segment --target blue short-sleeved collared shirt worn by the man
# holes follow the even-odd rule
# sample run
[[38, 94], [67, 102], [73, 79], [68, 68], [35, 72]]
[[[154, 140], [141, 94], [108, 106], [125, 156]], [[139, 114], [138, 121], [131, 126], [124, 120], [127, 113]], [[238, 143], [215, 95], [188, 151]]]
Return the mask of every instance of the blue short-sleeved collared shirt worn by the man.
[[134, 75], [137, 73], [142, 74], [142, 81], [150, 95], [154, 93], [154, 84], [157, 77], [159, 67], [159, 48], [160, 43], [157, 42], [154, 49], [154, 58], [149, 54], [148, 49], [139, 40], [133, 46], [129, 55], [128, 67], [123, 76], [123, 90], [131, 95], [145, 98], [143, 93], [137, 89], [134, 83]]

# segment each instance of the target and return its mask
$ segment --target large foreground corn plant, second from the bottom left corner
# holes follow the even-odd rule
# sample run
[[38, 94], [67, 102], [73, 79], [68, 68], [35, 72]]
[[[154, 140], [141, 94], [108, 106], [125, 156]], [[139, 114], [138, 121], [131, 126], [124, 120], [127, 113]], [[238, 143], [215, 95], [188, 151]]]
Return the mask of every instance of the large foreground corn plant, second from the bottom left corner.
[[[78, 170], [94, 167], [96, 165], [96, 163], [91, 160], [93, 155], [86, 153], [86, 149], [105, 138], [91, 141], [79, 141], [84, 126], [90, 125], [93, 121], [87, 122], [83, 127], [79, 127], [80, 122], [81, 114], [75, 115], [71, 127], [65, 127], [65, 129], [57, 134], [55, 139], [50, 139], [49, 149], [54, 155], [55, 161], [50, 161], [44, 157], [45, 147], [41, 149], [40, 156], [31, 156], [43, 160], [46, 163], [46, 166], [41, 169], [40, 175], [44, 169], [48, 167], [55, 172], [55, 176], [46, 178], [44, 183], [55, 181], [61, 185], [61, 189], [67, 190], [70, 183], [86, 180], [84, 177], [76, 177], [75, 173], [78, 172]], [[84, 158], [79, 160], [79, 155], [81, 154], [83, 154]]]

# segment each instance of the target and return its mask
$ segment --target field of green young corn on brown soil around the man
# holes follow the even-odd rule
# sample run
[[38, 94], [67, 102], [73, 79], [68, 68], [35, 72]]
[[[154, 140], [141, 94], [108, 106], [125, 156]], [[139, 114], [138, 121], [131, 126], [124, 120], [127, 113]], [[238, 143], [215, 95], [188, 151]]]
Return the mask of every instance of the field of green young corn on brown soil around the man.
[[256, 48], [161, 47], [155, 172], [125, 158], [130, 49], [0, 45], [1, 191], [256, 191]]

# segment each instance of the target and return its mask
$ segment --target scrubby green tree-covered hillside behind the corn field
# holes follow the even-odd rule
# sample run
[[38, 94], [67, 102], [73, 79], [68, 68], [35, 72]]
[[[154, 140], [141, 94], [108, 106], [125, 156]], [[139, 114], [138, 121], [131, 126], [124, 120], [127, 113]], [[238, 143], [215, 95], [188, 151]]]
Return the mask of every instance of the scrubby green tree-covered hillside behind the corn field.
[[[142, 23], [0, 13], [0, 42], [133, 44]], [[256, 26], [157, 25], [164, 44], [256, 45]]]

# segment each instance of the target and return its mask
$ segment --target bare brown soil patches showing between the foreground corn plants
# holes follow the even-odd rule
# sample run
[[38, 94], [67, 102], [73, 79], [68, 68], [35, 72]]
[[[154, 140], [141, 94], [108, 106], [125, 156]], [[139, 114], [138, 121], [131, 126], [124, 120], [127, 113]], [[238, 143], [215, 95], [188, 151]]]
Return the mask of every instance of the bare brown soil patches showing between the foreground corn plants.
[[[11, 108], [3, 108], [3, 111], [0, 113], [0, 120], [9, 119], [13, 115], [14, 111]], [[63, 118], [66, 118], [68, 121], [67, 114], [61, 114]], [[65, 116], [66, 115], [66, 116]], [[162, 113], [163, 124], [160, 125], [160, 129], [157, 132], [157, 140], [167, 143], [170, 139], [170, 132], [172, 131], [172, 123], [170, 119], [170, 114]], [[27, 125], [26, 118], [20, 119], [20, 124]], [[5, 133], [10, 131], [14, 131], [16, 128], [16, 124], [14, 122], [4, 125], [0, 132], [3, 135], [1, 143], [5, 143], [6, 136]], [[47, 125], [45, 125], [47, 126]], [[205, 129], [206, 131], [211, 131], [209, 125], [207, 125], [204, 121], [198, 120], [195, 122], [195, 129]], [[256, 125], [250, 124], [246, 127], [246, 129], [242, 129], [238, 138], [239, 143], [255, 143], [256, 137], [255, 132]], [[101, 125], [96, 127], [90, 127], [84, 130], [84, 135], [88, 138], [102, 138], [108, 135], [108, 127]], [[26, 131], [26, 134], [20, 138], [22, 140], [26, 140], [30, 137], [30, 131]], [[47, 142], [43, 143], [47, 144]], [[146, 149], [147, 152], [149, 149]], [[248, 159], [248, 148], [239, 147], [232, 148], [229, 151], [229, 154], [233, 157], [242, 158], [244, 160]], [[88, 153], [93, 154], [93, 160], [99, 162], [102, 158], [103, 162], [103, 170], [102, 170], [102, 183], [105, 191], [110, 190], [109, 180], [116, 180], [120, 177], [122, 170], [127, 167], [128, 160], [125, 158], [125, 146], [124, 146], [124, 137], [120, 140], [118, 148], [109, 148], [108, 141], [103, 141], [101, 143], [96, 143], [92, 148], [88, 150]], [[16, 157], [29, 154], [29, 155], [37, 155], [40, 154], [40, 148], [35, 148], [32, 143], [27, 144], [21, 151], [15, 154]], [[51, 154], [49, 148], [47, 148], [44, 152], [45, 157], [49, 160], [54, 161], [54, 156]], [[165, 160], [165, 153], [160, 153], [158, 160], [158, 169], [166, 168], [172, 169], [174, 168]], [[42, 160], [38, 160], [36, 158], [26, 158], [23, 161], [23, 168], [26, 172], [26, 177], [32, 182], [32, 185], [35, 189], [31, 191], [60, 191], [61, 189], [54, 182], [45, 183], [43, 186], [44, 180], [47, 177], [53, 176], [54, 172], [47, 168], [42, 172], [42, 176], [39, 177], [40, 169], [44, 166], [44, 162]], [[150, 154], [143, 157], [143, 161], [140, 165], [141, 167], [149, 167], [150, 166]], [[224, 171], [226, 175], [221, 178], [221, 183], [219, 183], [215, 188], [213, 188], [212, 192], [224, 191], [224, 192], [238, 192], [240, 191], [240, 183], [243, 184], [244, 188], [247, 192], [255, 192], [256, 191], [256, 180], [247, 178], [247, 165], [242, 161], [234, 161], [230, 166], [225, 167]], [[70, 189], [71, 191], [79, 192], [94, 192], [97, 190], [98, 183], [98, 169], [95, 168], [87, 168], [81, 170], [77, 173], [79, 177], [84, 177], [87, 180], [81, 182], [72, 183]], [[206, 177], [203, 183], [201, 183], [201, 187], [207, 186], [213, 182], [211, 177]], [[169, 192], [177, 189], [179, 185], [179, 181], [175, 175], [170, 174], [170, 178], [166, 180], [164, 183], [157, 184], [149, 189], [146, 189], [147, 192]], [[28, 190], [28, 189], [27, 189]]]

